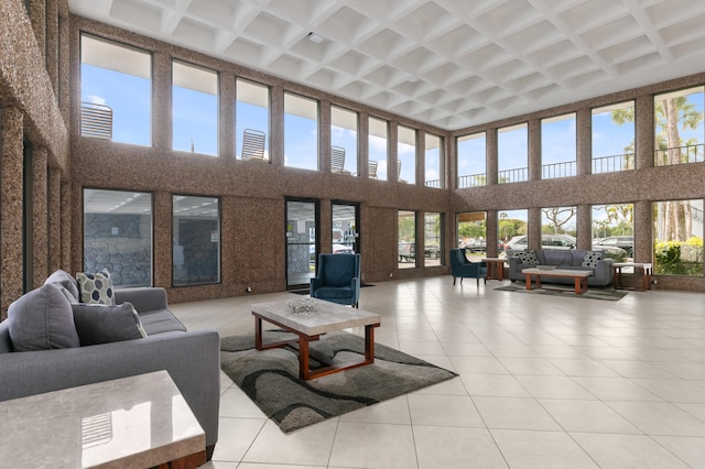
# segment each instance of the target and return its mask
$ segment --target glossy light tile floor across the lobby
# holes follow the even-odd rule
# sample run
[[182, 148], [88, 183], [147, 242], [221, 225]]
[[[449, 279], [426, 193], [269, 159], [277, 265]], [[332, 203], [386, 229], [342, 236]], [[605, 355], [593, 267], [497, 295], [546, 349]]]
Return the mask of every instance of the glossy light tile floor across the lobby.
[[[705, 468], [705, 294], [619, 302], [453, 286], [361, 290], [378, 342], [460, 374], [284, 435], [225, 375], [216, 469]], [[189, 329], [253, 334], [248, 295], [171, 305]]]

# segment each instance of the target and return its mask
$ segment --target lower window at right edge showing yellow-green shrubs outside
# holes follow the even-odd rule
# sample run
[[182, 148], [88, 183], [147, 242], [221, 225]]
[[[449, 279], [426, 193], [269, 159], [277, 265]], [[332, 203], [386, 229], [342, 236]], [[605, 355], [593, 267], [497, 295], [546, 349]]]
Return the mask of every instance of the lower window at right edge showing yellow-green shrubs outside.
[[703, 200], [653, 204], [653, 272], [703, 275]]

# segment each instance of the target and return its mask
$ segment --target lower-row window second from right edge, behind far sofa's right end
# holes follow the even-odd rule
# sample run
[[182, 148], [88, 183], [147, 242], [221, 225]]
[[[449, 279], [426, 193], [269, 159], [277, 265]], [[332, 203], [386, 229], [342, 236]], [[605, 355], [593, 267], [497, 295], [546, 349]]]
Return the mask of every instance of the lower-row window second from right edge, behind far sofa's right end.
[[632, 204], [593, 206], [593, 250], [614, 259], [633, 259], [634, 206]]

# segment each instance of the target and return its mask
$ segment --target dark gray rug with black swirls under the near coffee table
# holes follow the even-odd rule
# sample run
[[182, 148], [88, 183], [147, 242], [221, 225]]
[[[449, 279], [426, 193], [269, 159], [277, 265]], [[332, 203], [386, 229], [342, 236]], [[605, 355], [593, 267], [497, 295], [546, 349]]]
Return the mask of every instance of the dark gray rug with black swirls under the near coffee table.
[[[294, 339], [264, 331], [264, 343]], [[365, 339], [333, 332], [311, 342], [326, 358], [359, 360]], [[312, 368], [319, 366], [312, 358]], [[289, 349], [254, 350], [254, 336], [220, 340], [220, 368], [284, 433], [457, 377], [456, 373], [376, 343], [375, 363], [314, 380], [299, 378], [299, 357]]]

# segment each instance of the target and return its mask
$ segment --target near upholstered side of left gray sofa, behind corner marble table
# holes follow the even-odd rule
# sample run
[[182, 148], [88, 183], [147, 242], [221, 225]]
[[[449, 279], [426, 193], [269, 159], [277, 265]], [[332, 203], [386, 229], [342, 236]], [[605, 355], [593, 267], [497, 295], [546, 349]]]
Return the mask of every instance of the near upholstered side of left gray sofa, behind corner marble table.
[[206, 433], [218, 439], [220, 339], [213, 330], [89, 347], [0, 353], [0, 401], [166, 370]]

